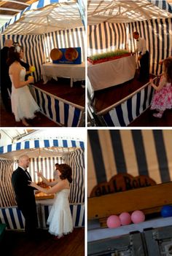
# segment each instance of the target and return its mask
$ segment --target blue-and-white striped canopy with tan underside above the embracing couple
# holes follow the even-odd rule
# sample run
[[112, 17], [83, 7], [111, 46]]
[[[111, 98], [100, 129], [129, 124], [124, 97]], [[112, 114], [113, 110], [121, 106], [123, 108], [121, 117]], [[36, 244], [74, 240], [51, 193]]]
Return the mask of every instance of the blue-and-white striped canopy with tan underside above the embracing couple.
[[[48, 151], [47, 148], [52, 148], [54, 150]], [[33, 139], [27, 141], [20, 141], [14, 144], [9, 144], [4, 147], [0, 147], [0, 155], [2, 158], [17, 158], [17, 152], [20, 150], [25, 150], [29, 155], [30, 150], [30, 157], [37, 157], [37, 156], [45, 156], [45, 155], [53, 155], [53, 151], [55, 155], [61, 154], [66, 155], [69, 152], [74, 151], [74, 148], [85, 148], [83, 141], [75, 141], [70, 139]], [[37, 150], [37, 152], [36, 152]], [[42, 154], [41, 154], [41, 150]], [[20, 154], [23, 155], [23, 152]]]

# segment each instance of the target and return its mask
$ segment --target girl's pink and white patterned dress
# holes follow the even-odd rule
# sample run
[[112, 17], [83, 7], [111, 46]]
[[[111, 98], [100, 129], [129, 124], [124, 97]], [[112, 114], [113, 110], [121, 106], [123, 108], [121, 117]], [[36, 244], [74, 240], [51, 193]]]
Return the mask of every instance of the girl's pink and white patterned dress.
[[[161, 77], [160, 82], [163, 77]], [[171, 82], [166, 82], [161, 90], [155, 90], [155, 94], [152, 98], [151, 109], [158, 109], [159, 111], [165, 111], [165, 109], [172, 108], [172, 86]]]

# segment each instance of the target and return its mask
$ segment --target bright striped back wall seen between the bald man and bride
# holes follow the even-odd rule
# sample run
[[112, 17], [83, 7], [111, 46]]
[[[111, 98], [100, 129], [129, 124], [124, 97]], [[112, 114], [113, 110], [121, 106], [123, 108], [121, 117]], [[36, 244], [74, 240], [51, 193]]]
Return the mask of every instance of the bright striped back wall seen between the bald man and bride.
[[[47, 158], [29, 158], [30, 164], [27, 171], [31, 175], [33, 182], [40, 182], [42, 179], [36, 175], [36, 171], [42, 171], [46, 179], [52, 180], [55, 171], [55, 163], [64, 163], [64, 157], [47, 157]], [[12, 171], [17, 168], [17, 162], [14, 163]], [[12, 204], [11, 204], [12, 205]]]

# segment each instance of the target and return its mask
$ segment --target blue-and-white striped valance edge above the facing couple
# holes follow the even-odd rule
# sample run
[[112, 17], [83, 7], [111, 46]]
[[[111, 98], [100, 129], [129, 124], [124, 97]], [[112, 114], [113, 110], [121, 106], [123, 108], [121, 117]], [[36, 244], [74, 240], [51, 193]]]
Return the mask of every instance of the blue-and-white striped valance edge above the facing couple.
[[0, 147], [0, 155], [16, 150], [34, 149], [42, 147], [81, 147], [85, 148], [83, 141], [74, 141], [70, 139], [33, 139], [30, 141], [20, 141]]

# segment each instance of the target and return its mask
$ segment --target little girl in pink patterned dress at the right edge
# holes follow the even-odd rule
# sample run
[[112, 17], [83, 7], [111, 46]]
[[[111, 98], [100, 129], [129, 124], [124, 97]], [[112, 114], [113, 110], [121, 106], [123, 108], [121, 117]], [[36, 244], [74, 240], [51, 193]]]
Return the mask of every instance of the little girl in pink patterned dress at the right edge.
[[163, 61], [163, 75], [159, 85], [156, 86], [152, 79], [149, 81], [156, 90], [152, 98], [151, 109], [156, 109], [157, 113], [153, 116], [161, 118], [165, 109], [172, 108], [172, 58], [166, 58]]

